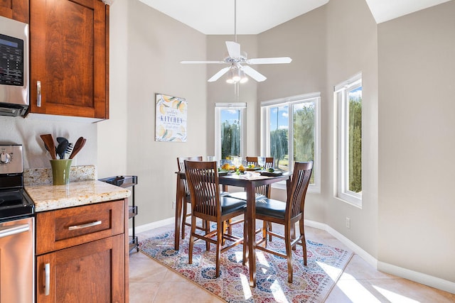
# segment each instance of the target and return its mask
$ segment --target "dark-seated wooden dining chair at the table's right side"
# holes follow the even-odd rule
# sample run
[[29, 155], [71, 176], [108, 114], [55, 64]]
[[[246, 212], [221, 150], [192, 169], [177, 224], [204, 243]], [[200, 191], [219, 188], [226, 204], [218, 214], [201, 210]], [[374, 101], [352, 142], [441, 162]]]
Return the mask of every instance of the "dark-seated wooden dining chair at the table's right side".
[[[294, 172], [291, 182], [287, 189], [287, 201], [283, 203], [274, 199], [261, 199], [256, 201], [256, 219], [264, 222], [284, 225], [284, 235], [269, 230], [269, 224], [264, 224], [262, 238], [257, 241], [256, 248], [267, 253], [278, 255], [287, 259], [288, 282], [292, 283], [292, 260], [291, 249], [296, 248], [296, 244], [303, 248], [304, 265], [306, 265], [306, 240], [304, 231], [304, 206], [306, 189], [310, 182], [311, 172], [313, 171], [313, 161], [295, 162]], [[295, 236], [296, 222], [299, 222], [300, 235]], [[286, 254], [267, 248], [267, 234], [269, 236], [284, 239]]]

